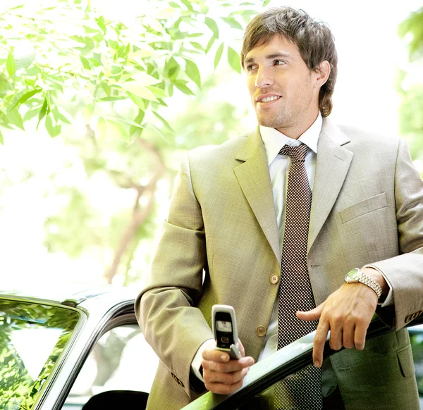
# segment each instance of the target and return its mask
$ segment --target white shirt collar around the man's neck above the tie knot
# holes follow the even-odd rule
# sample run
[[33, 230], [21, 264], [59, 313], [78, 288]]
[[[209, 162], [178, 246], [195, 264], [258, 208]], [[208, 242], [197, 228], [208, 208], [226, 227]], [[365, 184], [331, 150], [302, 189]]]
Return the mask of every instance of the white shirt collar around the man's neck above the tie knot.
[[268, 165], [270, 165], [276, 158], [276, 155], [278, 155], [278, 152], [285, 144], [288, 144], [289, 146], [300, 145], [301, 143], [306, 144], [309, 149], [317, 154], [317, 142], [319, 141], [322, 123], [323, 120], [319, 111], [314, 123], [312, 123], [312, 125], [298, 139], [287, 137], [275, 128], [259, 125], [260, 135], [262, 135], [264, 147], [266, 148]]

